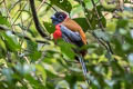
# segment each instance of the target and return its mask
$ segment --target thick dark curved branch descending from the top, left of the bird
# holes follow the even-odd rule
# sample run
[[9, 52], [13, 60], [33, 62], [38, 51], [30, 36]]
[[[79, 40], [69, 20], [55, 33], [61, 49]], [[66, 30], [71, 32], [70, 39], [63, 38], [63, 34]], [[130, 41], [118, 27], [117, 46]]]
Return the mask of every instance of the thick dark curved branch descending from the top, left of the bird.
[[42, 37], [48, 37], [43, 31], [42, 31], [42, 27], [39, 22], [39, 19], [37, 17], [37, 12], [35, 12], [35, 7], [34, 7], [34, 0], [29, 0], [30, 1], [30, 6], [31, 6], [31, 11], [32, 11], [32, 16], [33, 16], [33, 21], [35, 24], [35, 28], [38, 30], [38, 32], [42, 36]]

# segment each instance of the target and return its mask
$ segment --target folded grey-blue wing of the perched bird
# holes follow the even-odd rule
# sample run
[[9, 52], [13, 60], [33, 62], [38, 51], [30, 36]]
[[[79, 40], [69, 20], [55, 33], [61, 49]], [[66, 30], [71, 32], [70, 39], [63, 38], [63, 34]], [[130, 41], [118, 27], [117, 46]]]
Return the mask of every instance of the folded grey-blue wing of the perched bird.
[[64, 27], [63, 24], [60, 26], [60, 29], [62, 32], [62, 38], [66, 42], [72, 42], [79, 47], [83, 46], [83, 41], [82, 41], [79, 32], [73, 32], [70, 29], [68, 29], [66, 27]]

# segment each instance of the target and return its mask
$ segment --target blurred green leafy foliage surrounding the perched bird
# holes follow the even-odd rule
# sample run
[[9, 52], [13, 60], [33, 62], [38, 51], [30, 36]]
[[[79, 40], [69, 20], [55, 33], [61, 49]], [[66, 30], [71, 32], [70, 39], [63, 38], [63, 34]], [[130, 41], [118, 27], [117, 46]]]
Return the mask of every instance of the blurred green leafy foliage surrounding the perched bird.
[[117, 0], [82, 0], [85, 6], [80, 0], [47, 0], [59, 11], [68, 12], [85, 31], [89, 43], [78, 49], [88, 50], [84, 60], [90, 85], [85, 83], [80, 63], [73, 60], [71, 48], [76, 47], [62, 40], [55, 44], [52, 40], [54, 26], [50, 17], [54, 11], [48, 4], [40, 6], [43, 0], [34, 1], [47, 38], [34, 27], [29, 0], [0, 0], [0, 89], [133, 88], [130, 0], [123, 0], [122, 9], [119, 2], [111, 2]]

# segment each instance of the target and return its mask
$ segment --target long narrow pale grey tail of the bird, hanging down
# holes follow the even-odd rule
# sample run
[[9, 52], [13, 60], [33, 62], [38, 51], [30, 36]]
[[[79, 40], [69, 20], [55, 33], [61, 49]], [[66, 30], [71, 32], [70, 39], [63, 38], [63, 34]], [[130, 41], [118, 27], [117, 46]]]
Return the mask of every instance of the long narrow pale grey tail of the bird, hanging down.
[[88, 82], [88, 85], [90, 85], [90, 81], [89, 81], [88, 76], [86, 76], [88, 69], [86, 69], [86, 66], [84, 63], [84, 60], [83, 60], [82, 56], [79, 56], [79, 61], [80, 61], [80, 63], [82, 66], [82, 70], [83, 70], [83, 75], [84, 75], [85, 81]]

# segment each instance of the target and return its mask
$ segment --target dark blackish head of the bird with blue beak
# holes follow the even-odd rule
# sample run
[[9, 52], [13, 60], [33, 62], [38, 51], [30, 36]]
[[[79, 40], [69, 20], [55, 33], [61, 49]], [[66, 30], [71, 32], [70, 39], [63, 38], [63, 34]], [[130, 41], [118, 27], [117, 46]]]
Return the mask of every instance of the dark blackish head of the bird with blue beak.
[[66, 19], [66, 14], [64, 12], [55, 12], [51, 19], [52, 19], [52, 23], [53, 24], [59, 24], [61, 22], [63, 22]]

